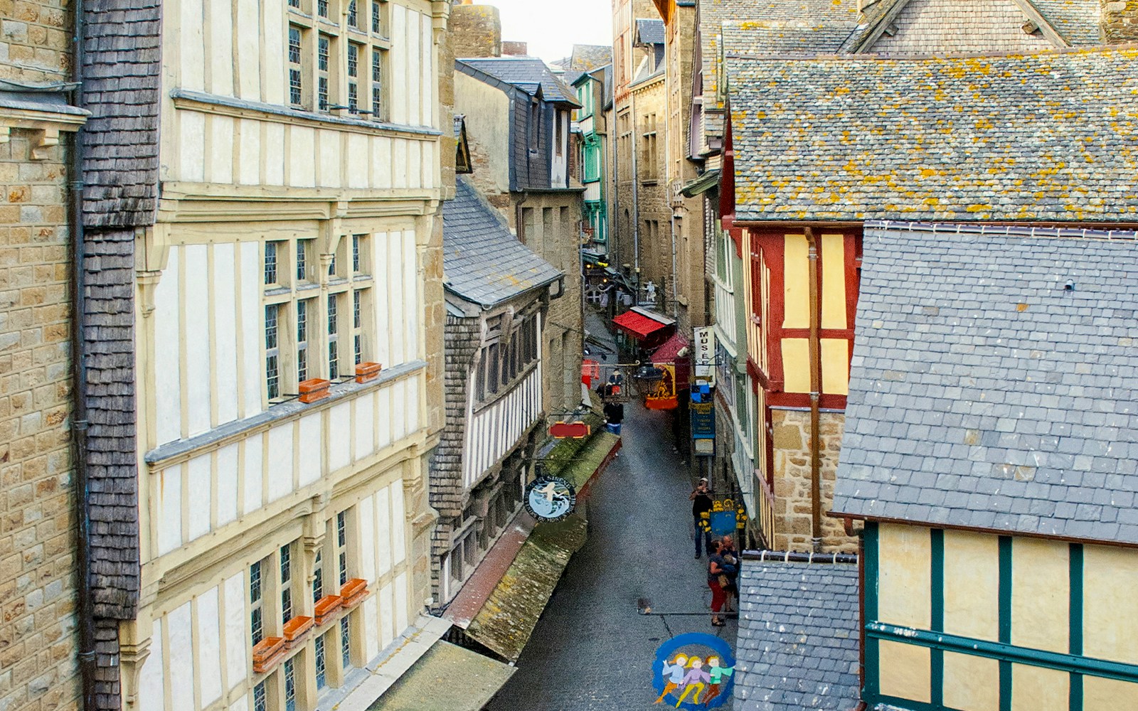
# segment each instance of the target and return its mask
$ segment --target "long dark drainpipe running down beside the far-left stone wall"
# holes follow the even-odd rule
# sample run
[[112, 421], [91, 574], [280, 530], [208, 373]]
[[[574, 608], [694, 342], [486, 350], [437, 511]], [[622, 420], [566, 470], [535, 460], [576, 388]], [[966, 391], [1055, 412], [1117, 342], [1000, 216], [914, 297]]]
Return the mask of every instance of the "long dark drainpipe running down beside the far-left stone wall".
[[[83, 105], [83, 7], [82, 0], [73, 3], [74, 11], [74, 81], [80, 82], [72, 97], [72, 105]], [[96, 711], [94, 689], [94, 605], [91, 601], [91, 509], [90, 483], [86, 471], [86, 361], [83, 352], [83, 316], [86, 313], [86, 278], [83, 271], [83, 130], [73, 134], [71, 146], [67, 213], [72, 240], [72, 375], [74, 379], [74, 411], [72, 414], [72, 443], [75, 447], [75, 509], [77, 519], [79, 552], [79, 667], [83, 679], [83, 709]]]

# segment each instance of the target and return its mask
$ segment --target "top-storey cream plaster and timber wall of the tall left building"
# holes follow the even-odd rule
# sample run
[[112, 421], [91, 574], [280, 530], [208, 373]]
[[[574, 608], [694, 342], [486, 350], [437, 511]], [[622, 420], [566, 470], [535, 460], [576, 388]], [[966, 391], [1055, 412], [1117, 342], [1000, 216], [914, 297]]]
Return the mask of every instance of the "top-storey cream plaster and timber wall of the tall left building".
[[431, 5], [357, 0], [355, 25], [348, 0], [296, 5], [179, 0], [163, 14], [167, 189], [436, 188]]

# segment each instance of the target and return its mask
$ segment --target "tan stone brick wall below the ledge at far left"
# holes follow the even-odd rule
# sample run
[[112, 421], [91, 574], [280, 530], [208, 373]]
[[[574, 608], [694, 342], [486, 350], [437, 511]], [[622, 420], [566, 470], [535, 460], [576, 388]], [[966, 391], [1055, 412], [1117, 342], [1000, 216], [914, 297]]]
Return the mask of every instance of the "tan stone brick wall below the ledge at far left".
[[30, 138], [0, 144], [0, 709], [55, 711], [80, 698], [66, 155]]

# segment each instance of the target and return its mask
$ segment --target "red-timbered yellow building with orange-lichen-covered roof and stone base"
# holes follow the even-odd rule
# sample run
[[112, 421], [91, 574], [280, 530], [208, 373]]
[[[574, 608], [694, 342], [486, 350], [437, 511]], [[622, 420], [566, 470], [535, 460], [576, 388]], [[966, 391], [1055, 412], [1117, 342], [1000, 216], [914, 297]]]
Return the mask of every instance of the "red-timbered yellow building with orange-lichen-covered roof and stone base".
[[769, 443], [756, 468], [756, 507], [766, 510], [757, 519], [777, 548], [850, 549], [823, 514], [863, 222], [1132, 223], [1133, 135], [1115, 111], [1132, 110], [1133, 50], [933, 60], [775, 57], [728, 44], [725, 66], [723, 224], [748, 256], [748, 370]]

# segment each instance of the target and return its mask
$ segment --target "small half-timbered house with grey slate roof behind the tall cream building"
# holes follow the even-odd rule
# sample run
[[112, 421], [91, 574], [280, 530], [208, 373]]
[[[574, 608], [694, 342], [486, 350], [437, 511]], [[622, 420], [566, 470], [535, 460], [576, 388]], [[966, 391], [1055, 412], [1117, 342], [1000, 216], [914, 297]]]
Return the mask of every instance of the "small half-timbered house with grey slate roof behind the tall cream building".
[[564, 279], [510, 233], [467, 177], [443, 218], [447, 417], [430, 480], [440, 605], [521, 512], [534, 450], [545, 438], [545, 319]]

